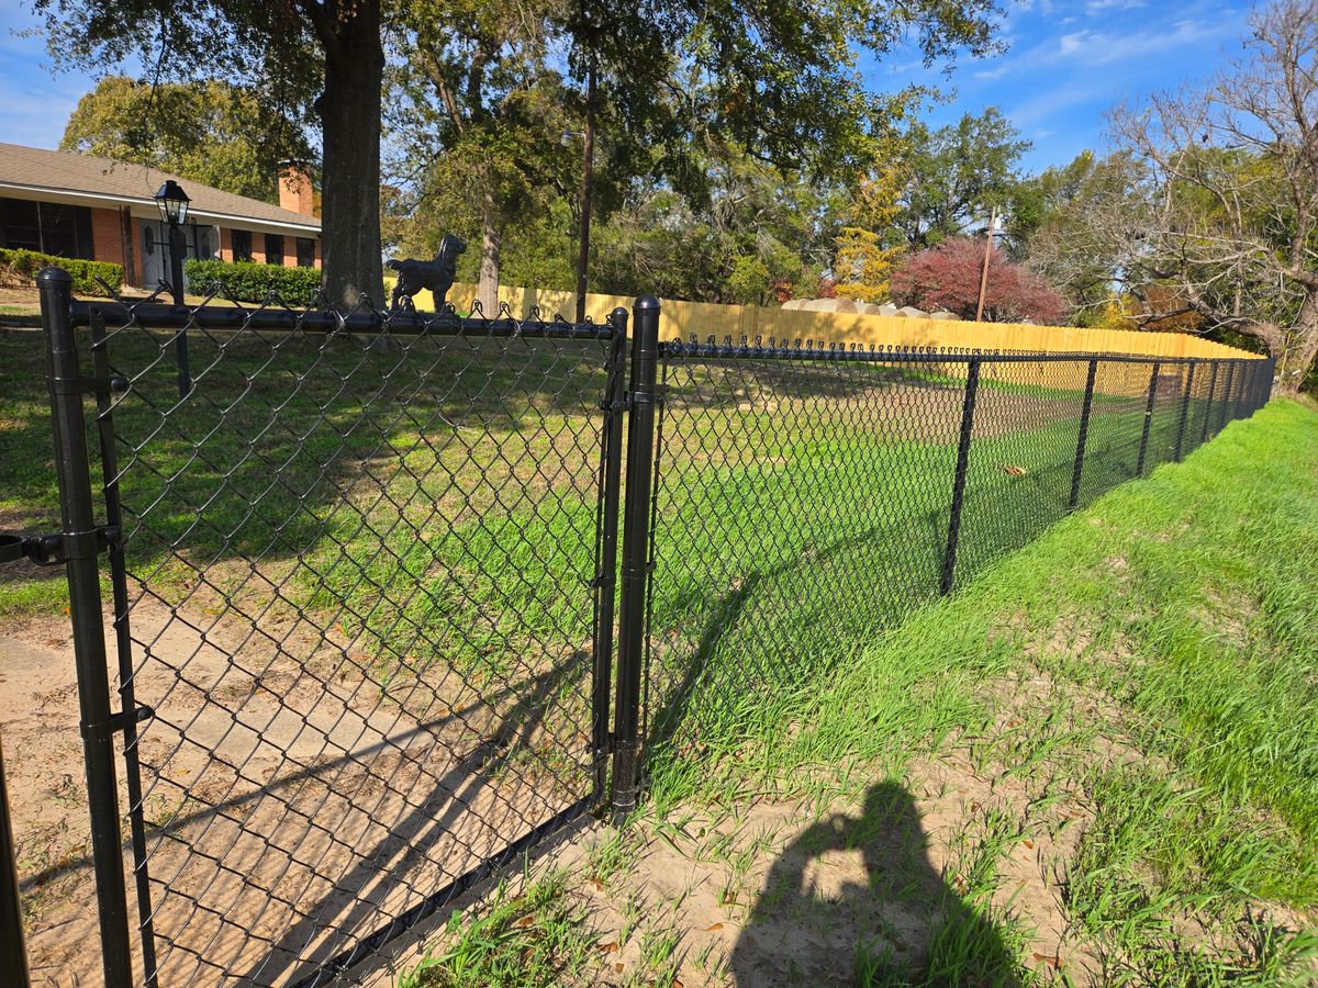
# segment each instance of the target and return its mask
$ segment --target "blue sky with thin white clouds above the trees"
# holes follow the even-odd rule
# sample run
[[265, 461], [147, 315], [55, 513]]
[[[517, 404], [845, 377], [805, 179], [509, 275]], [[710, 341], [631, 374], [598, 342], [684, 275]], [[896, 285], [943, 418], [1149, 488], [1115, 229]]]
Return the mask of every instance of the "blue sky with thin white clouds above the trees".
[[[1002, 109], [1033, 142], [1029, 170], [1103, 146], [1103, 112], [1122, 99], [1205, 78], [1240, 54], [1244, 3], [1214, 0], [1003, 0], [1004, 55], [961, 59], [950, 76], [909, 53], [862, 71], [875, 88], [923, 82], [954, 91], [931, 112], [934, 124], [985, 107]], [[0, 141], [54, 148], [78, 97], [92, 82], [51, 76], [25, 4], [0, 0]]]

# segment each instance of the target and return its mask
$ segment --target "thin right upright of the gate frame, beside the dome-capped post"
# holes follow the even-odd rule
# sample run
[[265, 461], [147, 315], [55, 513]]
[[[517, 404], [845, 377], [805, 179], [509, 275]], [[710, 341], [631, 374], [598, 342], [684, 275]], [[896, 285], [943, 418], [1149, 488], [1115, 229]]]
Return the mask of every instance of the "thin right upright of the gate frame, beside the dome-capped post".
[[594, 794], [604, 798], [608, 782], [609, 690], [613, 686], [613, 618], [618, 585], [618, 499], [622, 489], [622, 412], [626, 404], [627, 310], [616, 308], [613, 348], [609, 350], [609, 391], [604, 398], [606, 424], [600, 462], [600, 543], [597, 547], [594, 678], [590, 696], [590, 746], [594, 759]]

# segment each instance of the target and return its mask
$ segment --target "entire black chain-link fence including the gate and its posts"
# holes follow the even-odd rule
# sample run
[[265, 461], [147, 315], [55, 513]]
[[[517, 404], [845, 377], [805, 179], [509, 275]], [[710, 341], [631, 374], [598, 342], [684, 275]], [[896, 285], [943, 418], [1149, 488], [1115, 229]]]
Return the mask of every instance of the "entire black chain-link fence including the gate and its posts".
[[333, 980], [1273, 374], [40, 283], [113, 988]]

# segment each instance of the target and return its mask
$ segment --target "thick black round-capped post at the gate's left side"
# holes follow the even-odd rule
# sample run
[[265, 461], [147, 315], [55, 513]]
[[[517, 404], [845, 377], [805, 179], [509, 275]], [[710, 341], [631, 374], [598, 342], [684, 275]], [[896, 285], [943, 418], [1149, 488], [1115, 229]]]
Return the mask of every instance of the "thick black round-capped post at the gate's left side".
[[128, 939], [128, 898], [119, 829], [119, 792], [115, 781], [113, 722], [109, 710], [109, 672], [101, 617], [100, 532], [92, 510], [91, 470], [87, 457], [87, 422], [78, 344], [70, 320], [72, 278], [58, 267], [37, 275], [41, 324], [46, 335], [46, 373], [59, 481], [62, 545], [69, 578], [69, 615], [72, 624], [78, 703], [87, 769], [87, 808], [91, 815], [92, 871], [100, 917], [101, 962], [107, 988], [132, 983]]

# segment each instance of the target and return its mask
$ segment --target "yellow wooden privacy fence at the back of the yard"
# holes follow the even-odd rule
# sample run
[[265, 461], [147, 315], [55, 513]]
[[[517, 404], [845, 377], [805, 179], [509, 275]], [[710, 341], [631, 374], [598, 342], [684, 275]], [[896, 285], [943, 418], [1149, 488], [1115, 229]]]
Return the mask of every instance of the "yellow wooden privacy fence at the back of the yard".
[[[506, 304], [514, 319], [576, 312], [576, 295], [571, 291], [540, 288], [500, 288], [500, 303]], [[476, 286], [457, 283], [448, 300], [468, 311], [476, 299]], [[622, 295], [587, 295], [587, 316], [602, 323], [619, 306], [631, 299]], [[434, 308], [430, 292], [416, 296], [416, 307]], [[689, 340], [695, 333], [701, 341], [714, 336], [720, 343], [730, 336], [733, 343], [757, 336], [768, 341], [815, 340], [826, 344], [858, 346], [944, 348], [954, 350], [1025, 350], [1033, 353], [1130, 353], [1148, 357], [1240, 358], [1260, 354], [1213, 343], [1185, 333], [1151, 333], [1130, 329], [1081, 329], [1068, 325], [1025, 325], [1019, 323], [971, 323], [950, 319], [905, 319], [900, 316], [866, 316], [846, 312], [784, 311], [764, 306], [720, 306], [709, 302], [663, 302], [660, 339]], [[1103, 385], [1099, 382], [1099, 389]]]

